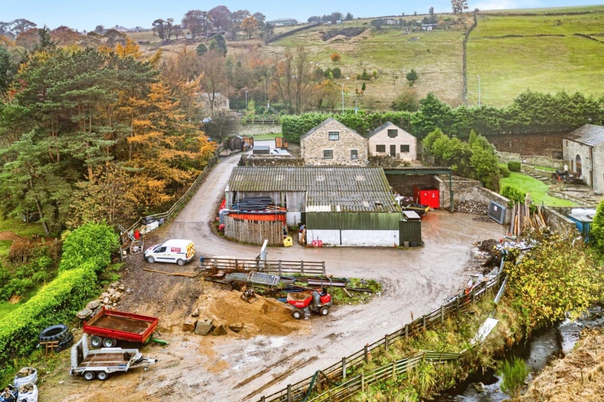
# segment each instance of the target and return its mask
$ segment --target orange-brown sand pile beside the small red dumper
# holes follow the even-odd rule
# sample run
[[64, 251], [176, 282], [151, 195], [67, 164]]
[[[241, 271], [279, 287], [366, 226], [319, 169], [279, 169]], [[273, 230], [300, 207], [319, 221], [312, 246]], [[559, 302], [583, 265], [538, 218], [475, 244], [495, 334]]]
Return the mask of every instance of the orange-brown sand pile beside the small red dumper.
[[237, 291], [212, 292], [200, 310], [205, 307], [205, 312], [217, 324], [226, 324], [227, 327], [230, 324], [243, 324], [243, 330], [239, 333], [243, 336], [283, 336], [304, 326], [303, 322], [292, 318], [291, 310], [280, 301], [258, 296], [257, 301], [248, 303], [240, 295], [241, 292]]

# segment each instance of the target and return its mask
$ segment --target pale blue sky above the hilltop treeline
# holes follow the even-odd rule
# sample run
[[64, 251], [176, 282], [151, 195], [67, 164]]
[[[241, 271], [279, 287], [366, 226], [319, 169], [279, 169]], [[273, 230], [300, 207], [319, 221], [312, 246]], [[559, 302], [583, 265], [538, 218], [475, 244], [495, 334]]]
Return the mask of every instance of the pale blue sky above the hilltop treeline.
[[[471, 10], [495, 10], [501, 8], [559, 7], [567, 5], [602, 4], [602, 0], [477, 0], [468, 1]], [[180, 22], [188, 10], [208, 11], [216, 5], [226, 5], [231, 11], [249, 10], [252, 14], [259, 11], [268, 20], [277, 18], [295, 18], [306, 22], [312, 15], [321, 16], [333, 11], [352, 13], [356, 17], [375, 17], [399, 15], [402, 13], [425, 14], [433, 6], [438, 12], [450, 12], [448, 0], [416, 1], [325, 1], [325, 0], [266, 0], [242, 1], [226, 0], [220, 2], [202, 2], [192, 0], [0, 0], [0, 22], [10, 22], [25, 18], [39, 27], [47, 25], [54, 29], [59, 25], [82, 31], [92, 31], [97, 25], [126, 28], [151, 27], [153, 20], [173, 18]]]

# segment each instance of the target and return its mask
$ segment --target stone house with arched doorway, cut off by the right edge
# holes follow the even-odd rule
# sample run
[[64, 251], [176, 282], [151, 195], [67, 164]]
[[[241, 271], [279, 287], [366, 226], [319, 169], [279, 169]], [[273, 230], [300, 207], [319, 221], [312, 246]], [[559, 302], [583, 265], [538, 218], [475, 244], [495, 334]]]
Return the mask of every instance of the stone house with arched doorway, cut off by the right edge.
[[564, 163], [575, 177], [604, 194], [604, 127], [586, 124], [562, 139]]

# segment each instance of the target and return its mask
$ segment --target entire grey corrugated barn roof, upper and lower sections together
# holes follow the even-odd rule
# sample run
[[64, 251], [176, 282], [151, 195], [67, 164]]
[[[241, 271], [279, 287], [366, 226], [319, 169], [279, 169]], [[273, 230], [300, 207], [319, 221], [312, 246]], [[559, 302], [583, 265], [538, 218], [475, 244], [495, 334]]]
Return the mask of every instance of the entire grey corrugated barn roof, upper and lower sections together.
[[237, 166], [229, 191], [306, 192], [307, 212], [398, 212], [382, 168]]

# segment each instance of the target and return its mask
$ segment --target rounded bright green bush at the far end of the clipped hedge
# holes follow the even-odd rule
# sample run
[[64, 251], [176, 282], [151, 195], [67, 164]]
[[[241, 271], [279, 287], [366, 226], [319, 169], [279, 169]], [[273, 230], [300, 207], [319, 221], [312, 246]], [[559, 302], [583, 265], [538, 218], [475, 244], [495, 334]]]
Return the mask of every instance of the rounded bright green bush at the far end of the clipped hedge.
[[117, 234], [107, 224], [83, 224], [65, 237], [59, 272], [77, 268], [88, 261], [94, 263], [95, 272], [101, 271], [111, 263], [111, 253], [117, 249], [117, 240]]

